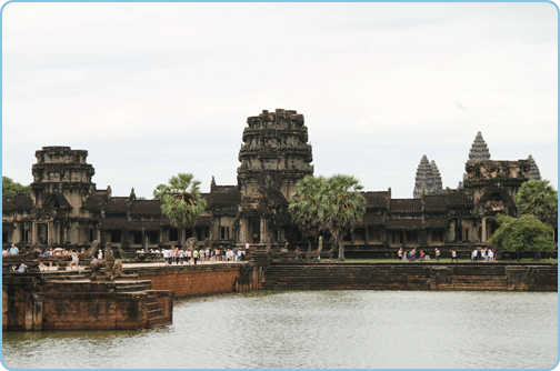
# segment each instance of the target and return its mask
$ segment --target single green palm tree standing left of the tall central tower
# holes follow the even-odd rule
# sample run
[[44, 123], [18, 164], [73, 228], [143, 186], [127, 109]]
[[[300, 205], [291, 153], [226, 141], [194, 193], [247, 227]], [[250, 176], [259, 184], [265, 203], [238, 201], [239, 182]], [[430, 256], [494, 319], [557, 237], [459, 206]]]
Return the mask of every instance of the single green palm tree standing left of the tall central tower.
[[207, 207], [207, 201], [200, 197], [200, 181], [192, 178], [192, 174], [179, 173], [169, 179], [169, 184], [159, 184], [153, 191], [154, 199], [163, 200], [161, 212], [181, 232], [183, 250], [186, 249], [186, 229], [194, 225]]

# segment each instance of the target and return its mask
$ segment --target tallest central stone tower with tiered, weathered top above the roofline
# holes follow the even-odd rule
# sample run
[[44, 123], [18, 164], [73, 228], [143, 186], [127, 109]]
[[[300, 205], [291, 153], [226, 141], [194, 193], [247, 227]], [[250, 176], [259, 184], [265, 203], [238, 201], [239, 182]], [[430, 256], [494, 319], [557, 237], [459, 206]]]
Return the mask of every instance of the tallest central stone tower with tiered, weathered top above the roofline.
[[242, 197], [259, 187], [280, 190], [289, 200], [298, 180], [313, 173], [303, 114], [277, 109], [247, 119], [239, 151], [238, 187]]

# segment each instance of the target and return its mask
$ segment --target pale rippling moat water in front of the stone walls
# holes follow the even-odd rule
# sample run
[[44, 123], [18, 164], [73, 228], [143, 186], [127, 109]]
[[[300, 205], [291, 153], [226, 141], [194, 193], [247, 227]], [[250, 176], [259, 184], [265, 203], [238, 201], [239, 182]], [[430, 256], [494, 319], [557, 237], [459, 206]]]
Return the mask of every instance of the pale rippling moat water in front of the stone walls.
[[10, 369], [550, 369], [558, 293], [249, 292], [139, 331], [4, 332]]

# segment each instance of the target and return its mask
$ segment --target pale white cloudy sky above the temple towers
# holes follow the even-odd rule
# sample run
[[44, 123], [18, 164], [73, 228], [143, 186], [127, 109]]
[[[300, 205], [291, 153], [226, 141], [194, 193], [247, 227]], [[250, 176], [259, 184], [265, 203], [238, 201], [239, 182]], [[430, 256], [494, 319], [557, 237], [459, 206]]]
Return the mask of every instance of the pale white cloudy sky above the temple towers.
[[302, 113], [316, 174], [412, 198], [423, 154], [457, 188], [478, 131], [558, 189], [550, 3], [9, 3], [2, 174], [89, 151], [98, 189], [237, 184], [247, 118]]

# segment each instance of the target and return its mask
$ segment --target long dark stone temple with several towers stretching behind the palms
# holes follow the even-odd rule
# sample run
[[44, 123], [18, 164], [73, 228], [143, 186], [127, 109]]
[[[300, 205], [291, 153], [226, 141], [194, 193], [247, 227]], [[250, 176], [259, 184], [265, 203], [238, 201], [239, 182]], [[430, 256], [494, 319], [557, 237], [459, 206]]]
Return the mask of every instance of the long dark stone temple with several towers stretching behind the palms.
[[[237, 186], [219, 186], [212, 177], [202, 193], [207, 209], [187, 237], [217, 248], [246, 242], [279, 249], [307, 249], [307, 235], [288, 212], [297, 182], [313, 174], [312, 151], [303, 116], [277, 109], [249, 117], [242, 133]], [[2, 244], [21, 251], [34, 247], [78, 248], [98, 240], [119, 251], [179, 244], [179, 231], [161, 213], [160, 200], [113, 197], [98, 190], [88, 152], [69, 147], [43, 147], [36, 152], [31, 192], [3, 198]], [[469, 250], [486, 245], [498, 228], [497, 215], [516, 215], [516, 193], [528, 179], [540, 179], [534, 159], [490, 160], [488, 146], [477, 133], [457, 189], [443, 189], [436, 162], [423, 156], [412, 199], [393, 199], [391, 189], [366, 191], [367, 212], [344, 235], [346, 254], [393, 257], [399, 248]], [[558, 221], [552, 222], [554, 241]], [[317, 243], [317, 238], [316, 243]], [[328, 235], [326, 237], [328, 239]]]

